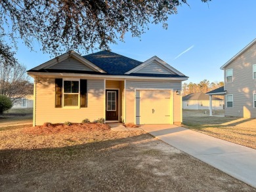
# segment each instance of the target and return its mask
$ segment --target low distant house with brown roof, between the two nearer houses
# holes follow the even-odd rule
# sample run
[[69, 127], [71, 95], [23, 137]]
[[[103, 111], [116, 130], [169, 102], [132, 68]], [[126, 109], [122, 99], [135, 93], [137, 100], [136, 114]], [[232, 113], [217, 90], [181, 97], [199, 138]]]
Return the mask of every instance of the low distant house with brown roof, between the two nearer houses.
[[[224, 101], [212, 97], [213, 109], [223, 109]], [[209, 96], [203, 92], [196, 92], [182, 97], [182, 109], [209, 109]]]

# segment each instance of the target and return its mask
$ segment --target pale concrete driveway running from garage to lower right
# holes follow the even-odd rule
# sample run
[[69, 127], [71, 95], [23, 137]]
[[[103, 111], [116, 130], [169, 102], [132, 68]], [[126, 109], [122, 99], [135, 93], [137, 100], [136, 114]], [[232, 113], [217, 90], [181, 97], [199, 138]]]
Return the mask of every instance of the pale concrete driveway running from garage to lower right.
[[256, 187], [256, 149], [175, 125], [143, 125], [140, 128], [163, 142]]

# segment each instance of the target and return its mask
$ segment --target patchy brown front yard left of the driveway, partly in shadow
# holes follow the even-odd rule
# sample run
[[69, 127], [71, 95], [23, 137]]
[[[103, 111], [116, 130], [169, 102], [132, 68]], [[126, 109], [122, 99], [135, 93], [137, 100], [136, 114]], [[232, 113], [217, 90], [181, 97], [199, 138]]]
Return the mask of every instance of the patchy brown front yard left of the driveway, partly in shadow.
[[255, 191], [143, 131], [69, 128], [1, 131], [0, 191]]

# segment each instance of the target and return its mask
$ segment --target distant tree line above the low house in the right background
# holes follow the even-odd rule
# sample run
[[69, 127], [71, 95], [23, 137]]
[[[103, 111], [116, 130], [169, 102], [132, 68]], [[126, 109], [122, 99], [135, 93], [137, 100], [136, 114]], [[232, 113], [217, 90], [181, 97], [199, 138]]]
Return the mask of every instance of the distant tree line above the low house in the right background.
[[195, 92], [209, 92], [211, 90], [214, 90], [216, 88], [219, 88], [221, 86], [224, 86], [223, 81], [219, 82], [209, 82], [207, 79], [204, 79], [203, 81], [200, 81], [200, 83], [183, 83], [182, 84], [182, 96], [186, 96], [190, 93]]

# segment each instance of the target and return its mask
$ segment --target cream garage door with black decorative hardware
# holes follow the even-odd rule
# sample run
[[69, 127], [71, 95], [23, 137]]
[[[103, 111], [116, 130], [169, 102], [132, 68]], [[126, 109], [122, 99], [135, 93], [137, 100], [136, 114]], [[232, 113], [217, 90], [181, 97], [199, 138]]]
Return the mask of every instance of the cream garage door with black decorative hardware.
[[137, 90], [136, 123], [170, 124], [171, 90]]

